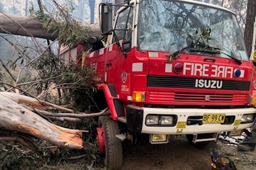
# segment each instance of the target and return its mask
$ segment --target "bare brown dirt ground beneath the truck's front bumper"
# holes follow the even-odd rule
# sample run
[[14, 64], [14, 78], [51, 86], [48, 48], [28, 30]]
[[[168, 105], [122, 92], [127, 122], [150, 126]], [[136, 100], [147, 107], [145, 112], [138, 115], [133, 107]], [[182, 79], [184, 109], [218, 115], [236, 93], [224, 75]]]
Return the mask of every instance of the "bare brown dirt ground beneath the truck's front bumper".
[[211, 170], [211, 152], [228, 156], [237, 170], [256, 169], [256, 151], [237, 151], [234, 145], [221, 140], [206, 149], [197, 149], [187, 142], [185, 136], [171, 139], [168, 144], [123, 143], [122, 170]]

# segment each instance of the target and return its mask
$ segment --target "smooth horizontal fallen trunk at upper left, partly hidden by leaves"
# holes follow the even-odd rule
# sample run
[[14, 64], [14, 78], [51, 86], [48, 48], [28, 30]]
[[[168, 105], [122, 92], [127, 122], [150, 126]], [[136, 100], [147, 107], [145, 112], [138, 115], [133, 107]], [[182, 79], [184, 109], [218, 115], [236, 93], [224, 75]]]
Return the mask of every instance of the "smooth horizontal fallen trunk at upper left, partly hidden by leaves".
[[[99, 25], [89, 25], [89, 27], [91, 28], [89, 36], [101, 35]], [[58, 37], [51, 32], [47, 33], [38, 19], [2, 12], [0, 12], [0, 33], [45, 38], [52, 41]]]

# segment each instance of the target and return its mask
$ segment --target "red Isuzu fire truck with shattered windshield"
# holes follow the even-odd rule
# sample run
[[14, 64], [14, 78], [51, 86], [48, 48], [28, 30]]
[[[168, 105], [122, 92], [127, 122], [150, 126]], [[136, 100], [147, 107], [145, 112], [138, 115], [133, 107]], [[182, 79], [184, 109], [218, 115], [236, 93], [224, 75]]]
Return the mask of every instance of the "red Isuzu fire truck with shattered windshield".
[[[121, 6], [113, 21], [113, 6]], [[190, 0], [103, 3], [101, 33], [87, 62], [98, 79], [99, 151], [122, 165], [122, 141], [168, 143], [186, 135], [198, 148], [255, 122], [256, 76], [236, 15]], [[94, 38], [94, 42], [98, 42]], [[96, 46], [96, 45], [95, 45]]]

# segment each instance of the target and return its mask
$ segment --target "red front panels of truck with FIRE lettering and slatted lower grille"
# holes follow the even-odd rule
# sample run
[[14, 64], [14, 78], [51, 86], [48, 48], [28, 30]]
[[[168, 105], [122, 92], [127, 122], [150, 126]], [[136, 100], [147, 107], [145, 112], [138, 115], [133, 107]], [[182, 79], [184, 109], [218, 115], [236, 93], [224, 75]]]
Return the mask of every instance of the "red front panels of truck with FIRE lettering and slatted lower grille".
[[[195, 77], [202, 79], [220, 79], [220, 80], [241, 80], [250, 81], [252, 78], [252, 64], [243, 61], [241, 65], [237, 64], [232, 59], [180, 54], [178, 59], [166, 62], [168, 53], [158, 53], [158, 57], [151, 57], [149, 62], [149, 75], [164, 75], [164, 76], [179, 76], [179, 77]], [[204, 59], [213, 59], [206, 60]], [[214, 61], [215, 60], [215, 61]], [[183, 65], [183, 71], [177, 74], [173, 70], [176, 63]], [[171, 66], [172, 70], [166, 70], [166, 64]], [[196, 65], [196, 66], [195, 66]], [[235, 69], [243, 70], [243, 76], [234, 77]], [[218, 89], [203, 89], [203, 88], [160, 88], [148, 87], [146, 102], [148, 103], [163, 103], [173, 105], [200, 105], [200, 106], [235, 106], [247, 105], [249, 102], [249, 91], [237, 90], [218, 90]], [[213, 100], [206, 101], [205, 95], [212, 96]], [[167, 99], [167, 100], [166, 100]], [[198, 103], [200, 102], [200, 103]]]

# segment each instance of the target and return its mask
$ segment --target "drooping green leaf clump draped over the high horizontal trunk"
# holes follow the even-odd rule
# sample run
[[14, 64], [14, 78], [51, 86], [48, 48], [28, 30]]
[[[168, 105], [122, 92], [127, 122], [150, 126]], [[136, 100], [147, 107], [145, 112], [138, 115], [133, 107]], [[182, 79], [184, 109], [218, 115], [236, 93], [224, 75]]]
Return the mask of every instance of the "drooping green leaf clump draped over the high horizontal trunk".
[[30, 9], [30, 14], [42, 21], [46, 31], [58, 35], [58, 41], [61, 45], [72, 46], [78, 42], [86, 42], [89, 26], [82, 25], [81, 22], [71, 16], [74, 10], [73, 5], [70, 3], [64, 6], [55, 4], [55, 7], [58, 10], [54, 14], [48, 11], [46, 11], [48, 13], [34, 11], [33, 8]]

